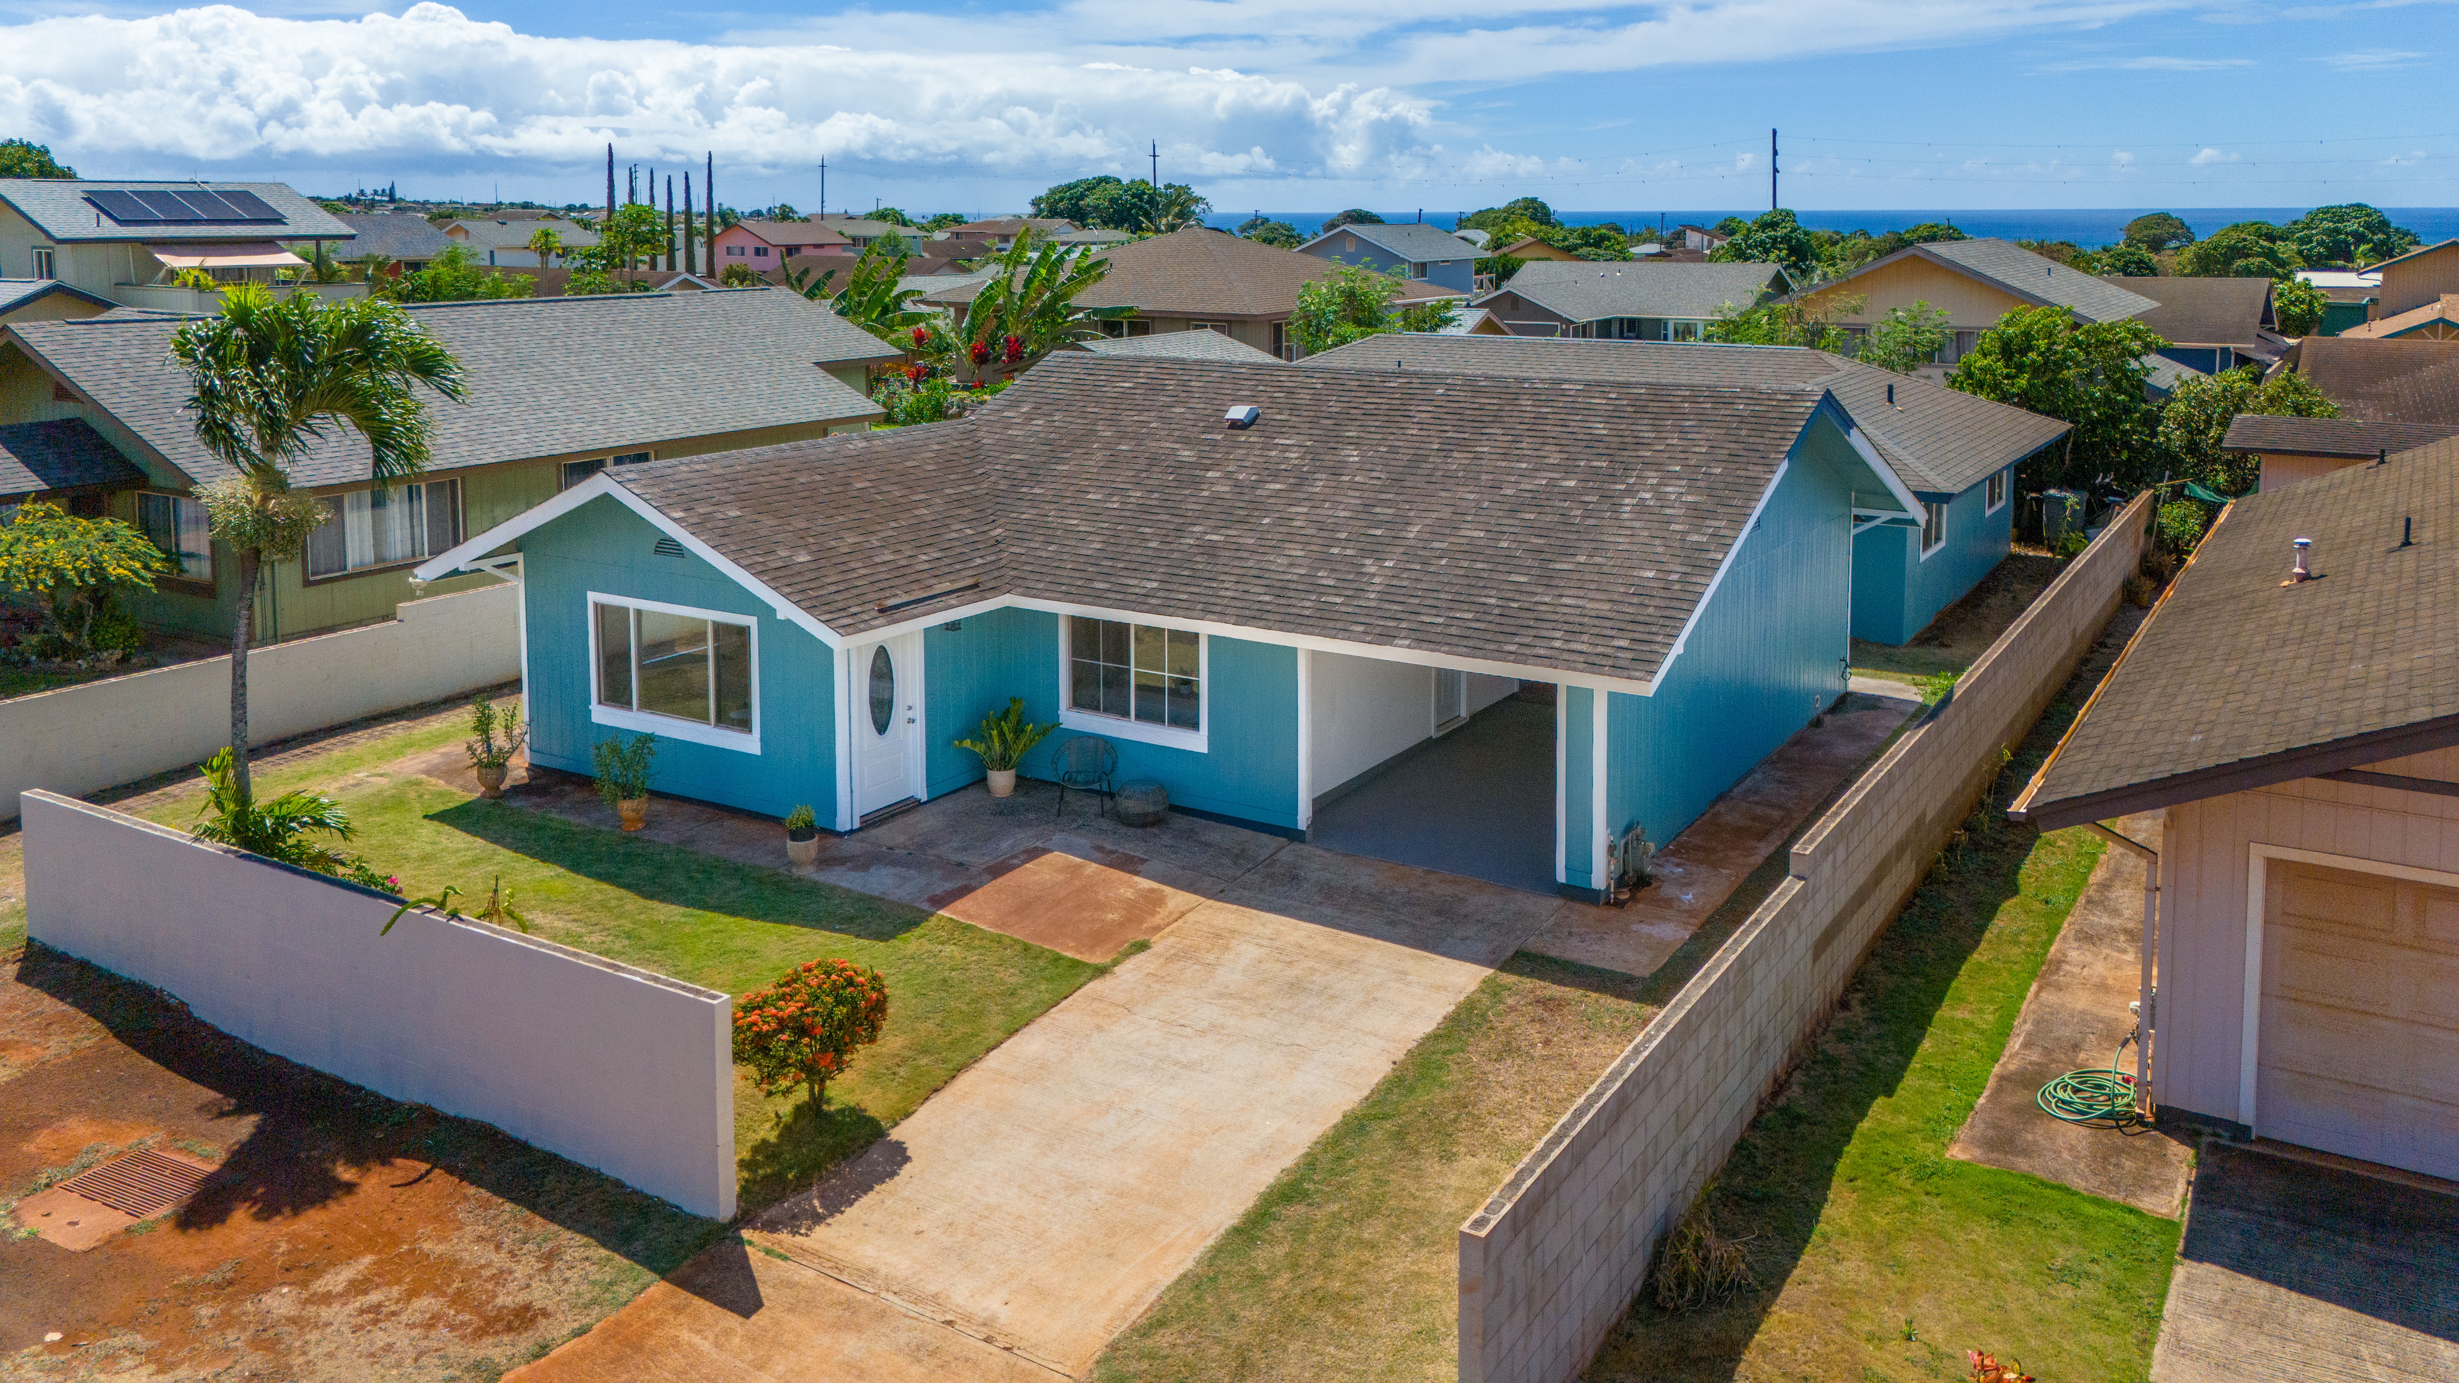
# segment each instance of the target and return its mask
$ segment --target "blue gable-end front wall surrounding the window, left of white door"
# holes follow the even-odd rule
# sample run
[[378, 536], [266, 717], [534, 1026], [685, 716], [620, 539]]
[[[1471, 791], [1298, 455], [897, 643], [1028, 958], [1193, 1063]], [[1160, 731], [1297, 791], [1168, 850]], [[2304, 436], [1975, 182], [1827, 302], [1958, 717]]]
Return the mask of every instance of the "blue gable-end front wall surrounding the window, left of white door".
[[659, 736], [654, 785], [770, 817], [809, 802], [821, 822], [834, 819], [834, 655], [698, 556], [657, 556], [659, 536], [639, 514], [600, 497], [521, 539], [531, 763], [590, 773], [593, 743], [632, 733], [590, 721], [590, 591], [757, 615], [760, 753]]

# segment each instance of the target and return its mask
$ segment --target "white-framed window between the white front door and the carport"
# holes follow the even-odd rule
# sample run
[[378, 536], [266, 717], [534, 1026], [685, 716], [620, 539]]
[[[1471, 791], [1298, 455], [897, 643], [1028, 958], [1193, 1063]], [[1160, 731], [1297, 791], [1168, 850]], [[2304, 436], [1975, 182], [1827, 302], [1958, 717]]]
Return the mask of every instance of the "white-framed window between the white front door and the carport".
[[1205, 753], [1210, 652], [1210, 640], [1195, 630], [1067, 615], [1060, 620], [1060, 723]]

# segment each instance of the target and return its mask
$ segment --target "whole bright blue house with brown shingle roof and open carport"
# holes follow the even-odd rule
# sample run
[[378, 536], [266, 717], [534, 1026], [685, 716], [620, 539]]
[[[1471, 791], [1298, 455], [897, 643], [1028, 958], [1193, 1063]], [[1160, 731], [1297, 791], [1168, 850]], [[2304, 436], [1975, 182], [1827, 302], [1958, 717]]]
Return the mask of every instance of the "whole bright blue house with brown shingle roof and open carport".
[[1554, 743], [1495, 773], [1596, 898], [1844, 691], [1852, 514], [1916, 509], [1849, 438], [1820, 386], [1060, 352], [961, 421], [593, 475], [418, 573], [519, 546], [534, 765], [654, 733], [659, 792], [841, 832], [976, 783], [952, 741], [1011, 696], [1062, 726], [1028, 775], [1099, 736], [1303, 834], [1552, 684]]

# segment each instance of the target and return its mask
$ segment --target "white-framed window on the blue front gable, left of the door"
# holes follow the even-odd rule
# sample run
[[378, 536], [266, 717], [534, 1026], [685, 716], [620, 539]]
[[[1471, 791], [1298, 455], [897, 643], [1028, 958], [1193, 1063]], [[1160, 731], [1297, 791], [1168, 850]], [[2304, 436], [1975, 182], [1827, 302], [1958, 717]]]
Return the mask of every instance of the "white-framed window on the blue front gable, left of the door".
[[590, 591], [590, 721], [760, 753], [760, 620]]

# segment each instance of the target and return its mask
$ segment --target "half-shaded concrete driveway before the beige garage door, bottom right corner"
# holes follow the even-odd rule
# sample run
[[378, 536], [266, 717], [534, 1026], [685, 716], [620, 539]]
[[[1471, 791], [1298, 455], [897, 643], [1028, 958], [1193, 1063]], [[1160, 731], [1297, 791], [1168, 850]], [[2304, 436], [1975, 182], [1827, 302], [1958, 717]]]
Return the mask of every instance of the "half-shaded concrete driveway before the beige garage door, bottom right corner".
[[2425, 1378], [2459, 1378], [2459, 1196], [2206, 1142], [2152, 1383]]

